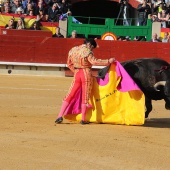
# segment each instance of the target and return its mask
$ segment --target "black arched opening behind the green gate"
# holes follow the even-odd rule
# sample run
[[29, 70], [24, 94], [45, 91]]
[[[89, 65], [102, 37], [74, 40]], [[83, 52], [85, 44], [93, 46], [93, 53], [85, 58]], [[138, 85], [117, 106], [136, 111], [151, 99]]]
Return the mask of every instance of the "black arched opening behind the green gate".
[[[85, 19], [79, 19], [80, 17], [96, 17], [96, 19], [93, 19], [93, 21], [91, 20], [93, 24], [105, 24], [102, 20], [97, 18], [115, 18], [117, 25], [122, 25], [122, 19], [120, 19], [119, 15], [120, 6], [120, 3], [114, 1], [93, 0], [74, 3], [72, 4], [71, 10], [73, 16], [79, 16], [78, 20], [80, 20], [82, 23], [87, 23], [87, 21], [85, 21]], [[131, 18], [134, 18], [135, 9], [131, 9]]]

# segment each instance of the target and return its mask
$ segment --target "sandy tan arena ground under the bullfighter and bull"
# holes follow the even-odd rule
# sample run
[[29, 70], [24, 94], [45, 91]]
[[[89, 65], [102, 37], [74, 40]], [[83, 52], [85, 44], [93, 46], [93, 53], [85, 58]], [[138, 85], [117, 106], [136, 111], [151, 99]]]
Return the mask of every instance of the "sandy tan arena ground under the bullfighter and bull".
[[170, 111], [144, 126], [54, 125], [72, 78], [0, 75], [1, 170], [170, 170]]

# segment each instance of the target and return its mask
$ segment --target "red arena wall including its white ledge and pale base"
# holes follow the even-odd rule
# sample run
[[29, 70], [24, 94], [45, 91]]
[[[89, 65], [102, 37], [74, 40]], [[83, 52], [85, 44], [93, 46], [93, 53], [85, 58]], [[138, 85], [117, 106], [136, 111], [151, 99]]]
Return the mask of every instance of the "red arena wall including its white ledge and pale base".
[[[73, 46], [82, 44], [84, 39], [58, 39], [52, 38], [51, 33], [46, 31], [41, 30], [36, 33], [32, 31], [33, 34], [30, 34], [30, 31], [22, 34], [21, 30], [1, 29], [0, 73], [8, 73], [9, 70], [16, 74], [24, 71], [28, 73], [29, 70], [32, 73], [42, 73], [44, 70], [47, 74], [58, 72], [59, 75], [63, 75], [62, 71], [65, 75], [71, 75], [66, 66], [68, 51]], [[170, 43], [106, 40], [97, 40], [97, 43], [99, 48], [94, 50], [97, 58], [115, 57], [122, 62], [156, 57], [170, 62]]]

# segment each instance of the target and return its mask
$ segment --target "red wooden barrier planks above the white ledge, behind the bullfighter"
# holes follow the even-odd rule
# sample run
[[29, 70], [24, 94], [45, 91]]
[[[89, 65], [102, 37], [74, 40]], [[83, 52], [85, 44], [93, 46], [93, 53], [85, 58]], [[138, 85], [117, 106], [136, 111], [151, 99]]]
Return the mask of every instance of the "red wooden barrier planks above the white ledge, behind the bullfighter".
[[[7, 30], [0, 35], [0, 61], [65, 64], [68, 51], [83, 39], [52, 38], [37, 32], [30, 36], [17, 34], [18, 30]], [[10, 33], [11, 31], [11, 33]], [[19, 30], [20, 31], [20, 30]], [[16, 32], [16, 33], [15, 33]], [[159, 57], [170, 62], [170, 43], [106, 41], [97, 40], [99, 48], [94, 50], [97, 58], [115, 57], [118, 61], [136, 58]]]

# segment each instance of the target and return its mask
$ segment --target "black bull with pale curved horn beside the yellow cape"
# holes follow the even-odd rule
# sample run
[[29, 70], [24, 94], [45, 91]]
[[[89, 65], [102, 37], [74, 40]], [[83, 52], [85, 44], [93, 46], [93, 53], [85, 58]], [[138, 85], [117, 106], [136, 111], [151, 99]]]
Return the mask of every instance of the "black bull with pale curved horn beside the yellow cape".
[[[121, 63], [132, 79], [145, 94], [145, 118], [152, 111], [152, 100], [165, 100], [165, 108], [170, 109], [170, 65], [159, 58], [142, 58]], [[103, 73], [99, 71], [98, 76]]]

